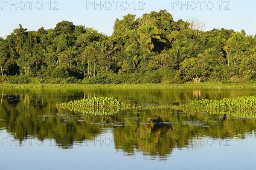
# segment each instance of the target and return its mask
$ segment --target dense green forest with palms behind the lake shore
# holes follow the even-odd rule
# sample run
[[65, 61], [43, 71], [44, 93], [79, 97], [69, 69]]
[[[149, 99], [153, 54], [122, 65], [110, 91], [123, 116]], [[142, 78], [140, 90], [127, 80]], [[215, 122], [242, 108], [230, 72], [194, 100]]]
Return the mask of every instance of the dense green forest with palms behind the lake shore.
[[116, 19], [111, 36], [70, 21], [38, 31], [19, 25], [0, 38], [0, 82], [256, 82], [256, 35], [203, 28], [166, 10]]

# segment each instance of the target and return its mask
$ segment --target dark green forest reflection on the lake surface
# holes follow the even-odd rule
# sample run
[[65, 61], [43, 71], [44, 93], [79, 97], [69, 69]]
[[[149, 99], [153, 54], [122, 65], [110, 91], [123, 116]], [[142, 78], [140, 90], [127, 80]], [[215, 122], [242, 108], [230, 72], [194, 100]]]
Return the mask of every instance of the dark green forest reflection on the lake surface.
[[[54, 139], [63, 149], [74, 143], [92, 141], [111, 129], [116, 150], [133, 154], [158, 155], [165, 159], [174, 148], [193, 147], [195, 139], [229, 139], [252, 134], [255, 118], [189, 113], [171, 109], [120, 111], [114, 115], [84, 115], [55, 108], [56, 103], [92, 96], [113, 96], [131, 104], [174, 104], [195, 98], [222, 99], [233, 90], [120, 90], [120, 89], [0, 89], [0, 129], [23, 142], [28, 137], [40, 141]], [[237, 95], [255, 91], [235, 90]]]

